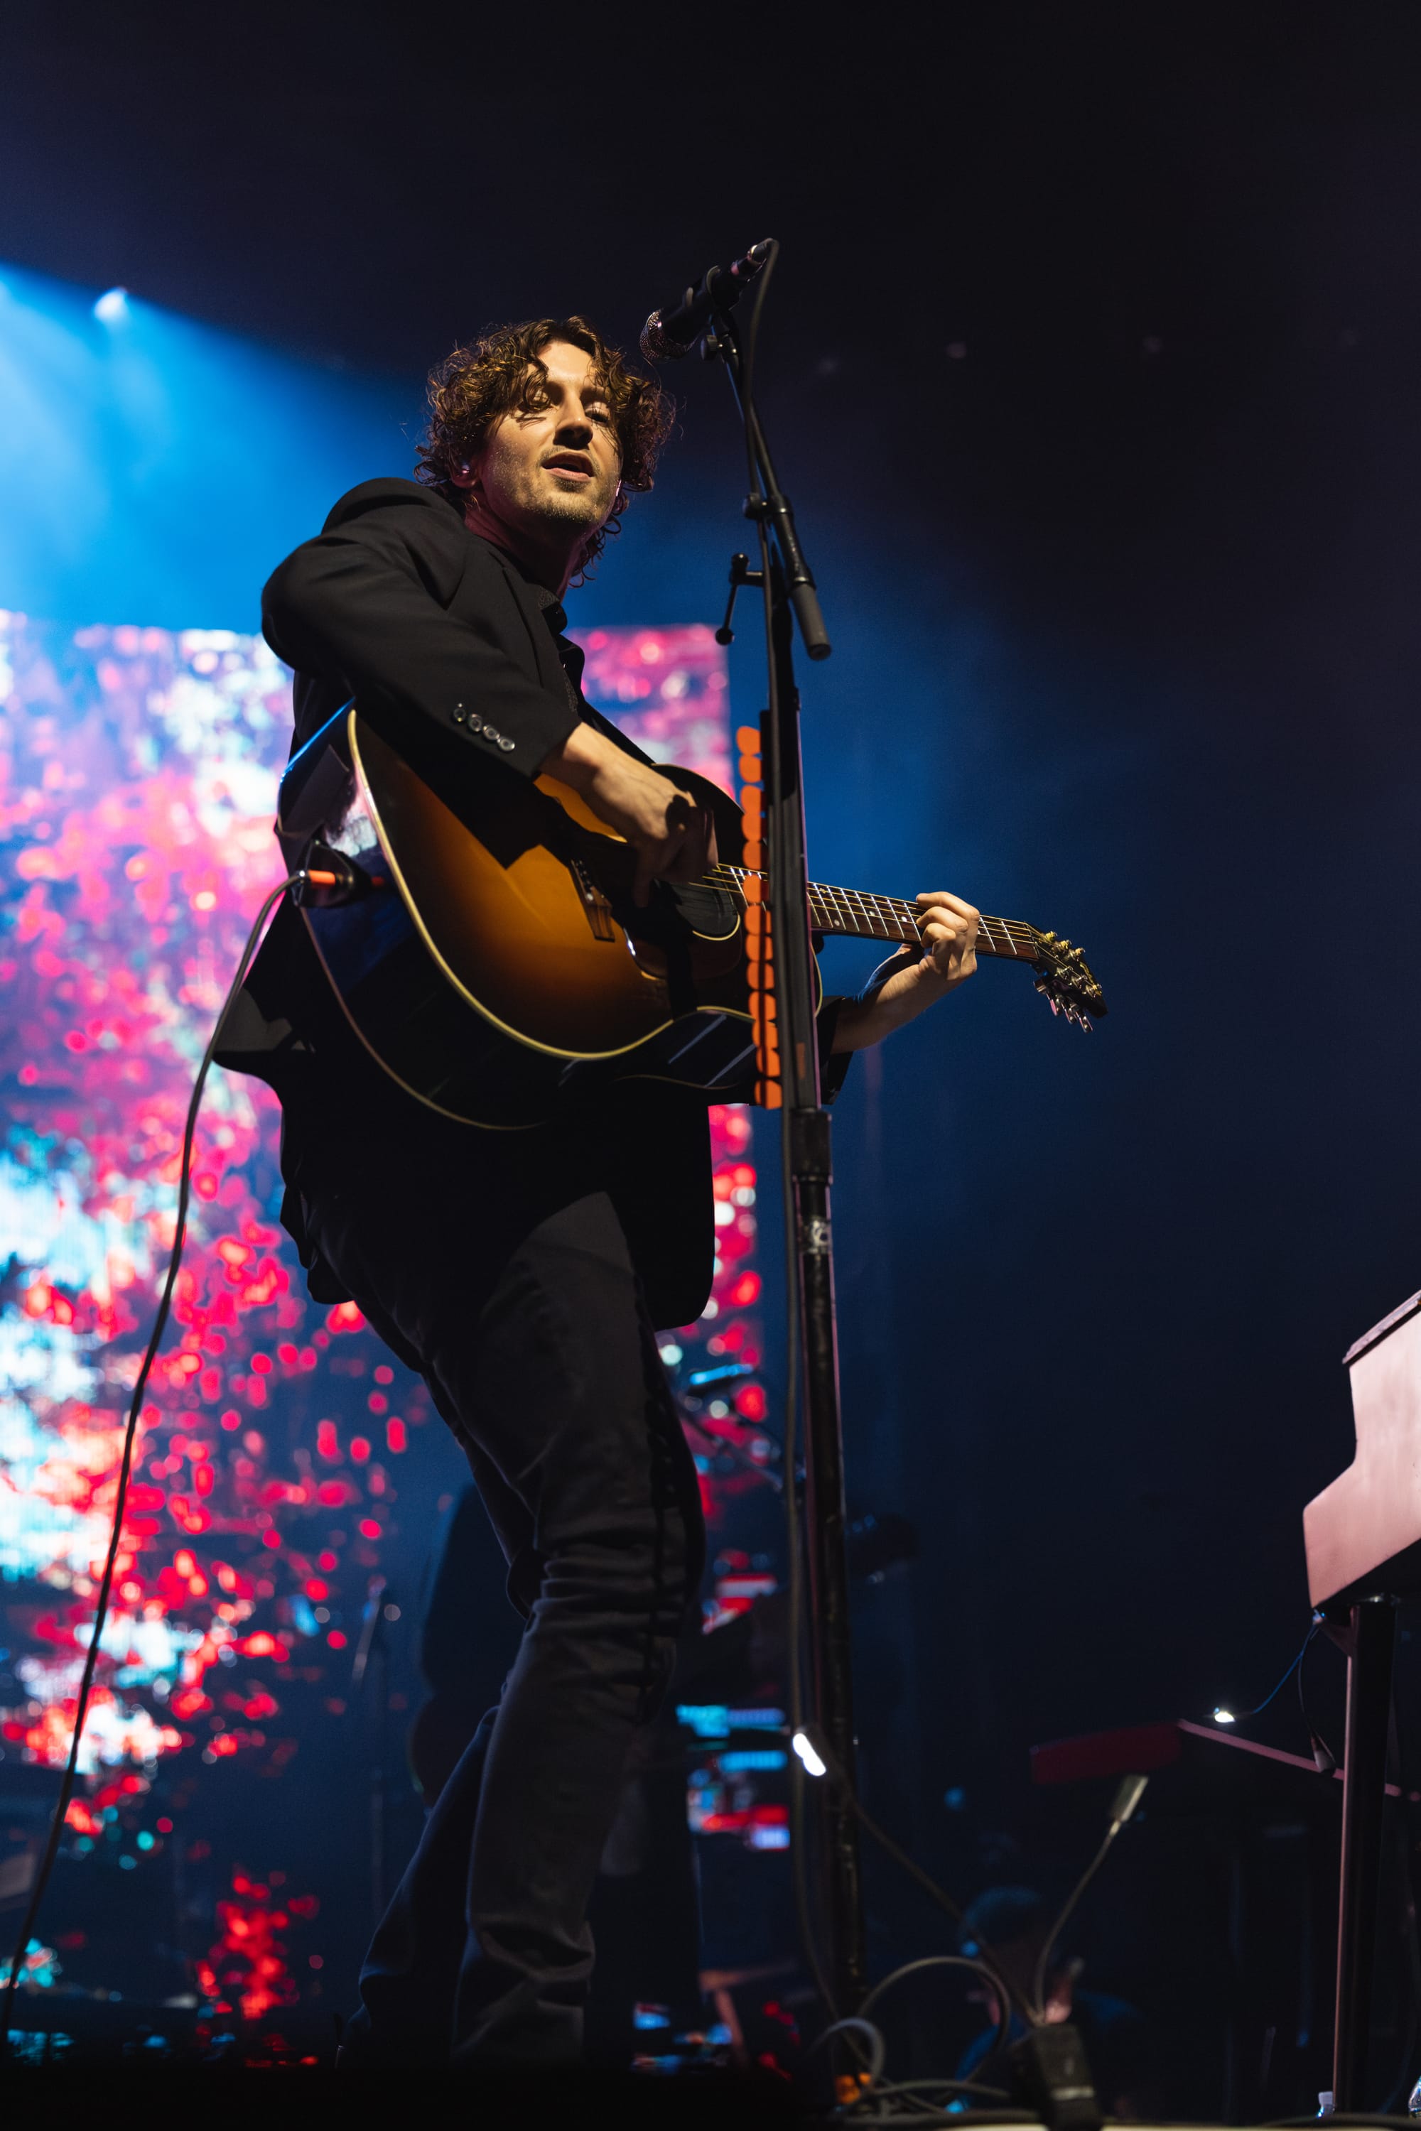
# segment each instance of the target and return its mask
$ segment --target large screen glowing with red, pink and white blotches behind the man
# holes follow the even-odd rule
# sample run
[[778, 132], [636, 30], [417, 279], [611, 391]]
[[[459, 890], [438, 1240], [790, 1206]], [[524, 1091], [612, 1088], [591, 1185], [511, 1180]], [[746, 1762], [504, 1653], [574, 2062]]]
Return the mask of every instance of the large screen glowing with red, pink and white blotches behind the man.
[[[729, 786], [724, 663], [709, 631], [592, 631], [584, 644], [594, 701], [658, 759]], [[0, 616], [6, 688], [0, 1166], [13, 1234], [0, 1400], [13, 1419], [0, 1477], [30, 1511], [0, 1526], [17, 1594], [6, 1641], [23, 1681], [0, 1730], [9, 1752], [53, 1767], [70, 1743], [124, 1413], [173, 1240], [194, 1059], [279, 878], [271, 812], [290, 699], [288, 676], [249, 637], [66, 635]], [[716, 1285], [705, 1317], [673, 1334], [684, 1372], [729, 1355], [752, 1370], [761, 1349], [746, 1315], [761, 1296], [750, 1123], [714, 1110], [712, 1129]], [[230, 1762], [279, 1773], [296, 1752], [288, 1683], [317, 1683], [322, 1666], [328, 1683], [347, 1675], [349, 1660], [330, 1654], [349, 1647], [371, 1566], [398, 1532], [381, 1458], [411, 1453], [430, 1400], [407, 1372], [396, 1381], [354, 1302], [307, 1300], [273, 1219], [275, 1153], [271, 1095], [213, 1074], [187, 1253], [138, 1426], [85, 1786], [68, 1813], [75, 1839], [96, 1839], [111, 1786], [143, 1786], [115, 1792], [132, 1803], [158, 1764], [226, 1782]], [[692, 1447], [716, 1511], [756, 1485], [765, 1394], [737, 1383], [695, 1404]], [[748, 1453], [735, 1470], [720, 1470], [716, 1441]], [[328, 1620], [311, 1620], [311, 1605]], [[339, 1722], [345, 1703], [324, 1692], [320, 1707], [322, 1722]], [[164, 1839], [175, 1826], [181, 1839], [177, 1807], [156, 1822]], [[264, 2020], [294, 2001], [294, 1912], [268, 1882], [232, 1877], [219, 1939], [198, 1963], [217, 2007]]]

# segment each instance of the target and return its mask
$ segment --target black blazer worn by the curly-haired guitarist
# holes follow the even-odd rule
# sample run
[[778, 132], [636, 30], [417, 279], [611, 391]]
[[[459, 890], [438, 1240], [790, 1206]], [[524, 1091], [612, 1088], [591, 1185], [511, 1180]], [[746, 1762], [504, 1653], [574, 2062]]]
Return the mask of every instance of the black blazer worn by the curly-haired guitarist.
[[[582, 654], [554, 635], [562, 622], [548, 592], [469, 533], [443, 497], [396, 479], [364, 482], [343, 497], [324, 531], [281, 563], [262, 595], [266, 641], [296, 671], [292, 752], [358, 695], [362, 716], [443, 793], [464, 778], [537, 776], [579, 718], [648, 759], [579, 701]], [[513, 746], [490, 746], [467, 722], [456, 725], [452, 712], [462, 703], [477, 703], [486, 725]], [[349, 1119], [352, 1164], [358, 1164], [371, 1104], [396, 1123], [413, 1100], [373, 1066], [349, 1029], [290, 904], [279, 906], [224, 1023], [217, 1061], [256, 1074], [281, 1097], [288, 1181], [281, 1219], [296, 1238], [313, 1296], [343, 1300], [339, 1279], [307, 1234], [300, 1176], [320, 1166], [317, 1138], [320, 1159], [328, 1157], [341, 1119]], [[424, 1127], [428, 1119], [422, 1110]], [[447, 1132], [458, 1136], [464, 1157], [471, 1140], [477, 1149], [486, 1138], [454, 1121]], [[575, 1161], [569, 1134], [582, 1136]], [[699, 1317], [714, 1259], [701, 1097], [660, 1083], [626, 1083], [556, 1129], [492, 1138], [503, 1142], [496, 1187], [526, 1185], [530, 1204], [545, 1204], [550, 1172], [567, 1168], [586, 1178], [590, 1142], [597, 1181], [618, 1206], [654, 1321]], [[509, 1140], [516, 1140], [511, 1166]], [[441, 1176], [430, 1174], [430, 1193], [439, 1189]]]

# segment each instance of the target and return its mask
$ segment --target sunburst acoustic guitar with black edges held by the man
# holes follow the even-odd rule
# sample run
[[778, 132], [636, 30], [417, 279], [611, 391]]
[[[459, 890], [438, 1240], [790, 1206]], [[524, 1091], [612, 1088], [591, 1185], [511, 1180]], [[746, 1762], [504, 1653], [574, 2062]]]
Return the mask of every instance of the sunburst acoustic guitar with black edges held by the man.
[[[631, 846], [556, 778], [501, 776], [441, 799], [354, 703], [292, 759], [277, 837], [315, 953], [352, 1027], [411, 1095], [490, 1129], [541, 1123], [569, 1095], [626, 1074], [712, 1102], [754, 1083], [739, 808], [688, 769], [720, 863], [631, 899]], [[816, 933], [918, 946], [916, 906], [810, 889]], [[1080, 948], [1016, 918], [982, 918], [978, 955], [1020, 961], [1055, 1012], [1106, 1012]]]

